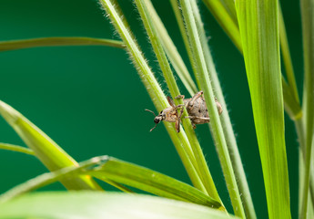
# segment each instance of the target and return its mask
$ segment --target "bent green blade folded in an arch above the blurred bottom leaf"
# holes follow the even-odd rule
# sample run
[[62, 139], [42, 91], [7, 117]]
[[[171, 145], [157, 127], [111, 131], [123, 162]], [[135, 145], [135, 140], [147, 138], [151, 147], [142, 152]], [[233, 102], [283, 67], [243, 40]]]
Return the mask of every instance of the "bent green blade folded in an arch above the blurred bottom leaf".
[[34, 191], [47, 184], [87, 174], [112, 184], [127, 193], [132, 193], [132, 191], [122, 184], [170, 199], [198, 203], [215, 208], [221, 206], [220, 203], [205, 193], [186, 183], [179, 182], [162, 173], [108, 156], [95, 157], [86, 162], [80, 162], [77, 167], [66, 167], [56, 172], [39, 175], [2, 194], [0, 203], [8, 202], [23, 193]]

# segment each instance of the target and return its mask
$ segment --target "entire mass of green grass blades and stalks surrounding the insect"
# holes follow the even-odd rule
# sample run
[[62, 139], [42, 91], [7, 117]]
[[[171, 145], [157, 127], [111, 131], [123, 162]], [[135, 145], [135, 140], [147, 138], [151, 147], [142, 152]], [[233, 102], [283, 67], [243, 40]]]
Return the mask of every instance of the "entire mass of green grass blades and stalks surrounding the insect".
[[[158, 16], [154, 5], [149, 0], [134, 2], [175, 104], [183, 104], [182, 99], [175, 99], [181, 94], [175, 73], [191, 96], [198, 90], [204, 92], [210, 118], [209, 129], [218, 151], [234, 214], [240, 218], [257, 218], [251, 198], [254, 192], [250, 193], [248, 188], [228, 110], [225, 108], [223, 114], [218, 115], [215, 98], [224, 107], [226, 101], [197, 2], [170, 1], [196, 82], [181, 57], [184, 55], [179, 54], [175, 43], [167, 34], [162, 17]], [[122, 41], [92, 37], [46, 37], [0, 42], [0, 51], [56, 46], [108, 46], [126, 49], [157, 111], [166, 109], [169, 106], [166, 95], [117, 1], [99, 0], [99, 3]], [[314, 168], [314, 1], [300, 0], [305, 68], [302, 101], [299, 101], [288, 36], [278, 1], [203, 0], [203, 3], [244, 57], [268, 216], [290, 218], [290, 208], [296, 208], [290, 206], [289, 202], [284, 130], [286, 110], [289, 118], [294, 120], [299, 136], [299, 218], [307, 218], [307, 215], [313, 214], [314, 209], [314, 176], [310, 172]], [[286, 77], [281, 74], [280, 48]], [[0, 218], [60, 218], [61, 215], [66, 218], [99, 218], [105, 215], [113, 218], [233, 218], [220, 199], [191, 121], [184, 119], [187, 116], [186, 109], [183, 110], [180, 132], [176, 131], [173, 123], [164, 124], [193, 186], [108, 156], [78, 163], [35, 124], [3, 101], [0, 101], [0, 114], [28, 147], [0, 143], [0, 149], [34, 155], [50, 171], [2, 194]], [[127, 194], [100, 192], [102, 188], [94, 178]], [[57, 181], [63, 183], [68, 190], [98, 191], [22, 195]], [[136, 194], [129, 187], [164, 198]]]

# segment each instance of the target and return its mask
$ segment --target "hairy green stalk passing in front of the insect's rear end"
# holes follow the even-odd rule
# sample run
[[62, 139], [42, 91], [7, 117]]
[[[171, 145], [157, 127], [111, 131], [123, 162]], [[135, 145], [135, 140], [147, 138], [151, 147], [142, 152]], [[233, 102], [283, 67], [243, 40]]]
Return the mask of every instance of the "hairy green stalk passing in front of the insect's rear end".
[[193, 16], [193, 10], [189, 0], [180, 0], [182, 14], [187, 27], [187, 36], [194, 57], [194, 65], [198, 67], [196, 78], [200, 88], [204, 91], [209, 117], [211, 119], [210, 126], [213, 133], [214, 141], [218, 148], [219, 158], [221, 159], [222, 169], [225, 175], [228, 192], [234, 212], [239, 217], [245, 218], [243, 205], [241, 203], [238, 185], [232, 163], [228, 156], [227, 142], [224, 137], [222, 126], [219, 120], [218, 110], [215, 103], [214, 92], [208, 77], [208, 68], [206, 65], [202, 45], [198, 36], [198, 27]]

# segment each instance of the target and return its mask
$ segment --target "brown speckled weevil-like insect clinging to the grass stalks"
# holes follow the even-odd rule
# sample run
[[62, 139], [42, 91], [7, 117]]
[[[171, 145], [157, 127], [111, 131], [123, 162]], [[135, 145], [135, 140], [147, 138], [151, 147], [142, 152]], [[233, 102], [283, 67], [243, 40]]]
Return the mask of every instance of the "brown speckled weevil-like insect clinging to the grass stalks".
[[[208, 108], [206, 106], [205, 99], [203, 98], [203, 91], [198, 91], [192, 98], [190, 99], [184, 99], [183, 95], [180, 95], [176, 97], [176, 99], [183, 99], [184, 106], [178, 105], [174, 103], [174, 101], [167, 97], [167, 101], [170, 104], [169, 107], [167, 107], [165, 110], [161, 110], [160, 113], [156, 116], [155, 113], [151, 110], [147, 110], [152, 112], [156, 117], [154, 119], [155, 127], [151, 129], [150, 131], [154, 130], [157, 126], [157, 124], [162, 121], [169, 121], [169, 122], [176, 122], [176, 130], [177, 132], [180, 131], [180, 120], [183, 113], [183, 108], [185, 107], [187, 109], [188, 116], [187, 119], [191, 120], [191, 123], [193, 125], [193, 129], [197, 128], [197, 124], [204, 124], [208, 123], [210, 121], [208, 116]], [[216, 105], [218, 109], [219, 115], [222, 113], [222, 107], [221, 104], [216, 100]], [[177, 112], [177, 110], [180, 110]]]

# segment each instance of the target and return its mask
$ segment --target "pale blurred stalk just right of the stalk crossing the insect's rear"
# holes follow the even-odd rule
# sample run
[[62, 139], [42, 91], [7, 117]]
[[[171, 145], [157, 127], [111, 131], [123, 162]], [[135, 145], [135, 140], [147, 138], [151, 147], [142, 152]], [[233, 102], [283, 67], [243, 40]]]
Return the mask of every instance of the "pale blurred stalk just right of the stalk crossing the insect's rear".
[[[232, 0], [231, 0], [232, 1]], [[232, 2], [233, 3], [233, 2]], [[208, 39], [206, 37], [206, 32], [204, 30], [203, 23], [198, 11], [198, 5], [195, 1], [191, 2], [192, 8], [196, 18], [196, 24], [198, 26], [198, 32], [200, 36], [200, 43], [204, 49], [204, 56], [208, 67], [208, 73], [212, 81], [212, 86], [215, 92], [215, 96], [218, 98], [219, 102], [224, 108], [224, 113], [220, 115], [221, 125], [224, 128], [225, 138], [227, 141], [228, 155], [230, 156], [230, 161], [232, 162], [233, 170], [238, 183], [238, 191], [241, 194], [241, 200], [246, 213], [247, 218], [257, 218], [254, 205], [252, 202], [251, 194], [248, 188], [248, 181], [246, 174], [243, 169], [243, 164], [241, 162], [241, 157], [238, 152], [238, 145], [236, 141], [235, 133], [233, 132], [232, 124], [228, 115], [227, 104], [225, 102], [222, 89], [220, 87], [220, 82], [218, 79], [218, 74], [215, 68], [215, 63], [210, 54], [210, 49], [208, 47]], [[234, 3], [233, 3], [234, 4]], [[235, 7], [233, 5], [233, 7]], [[234, 8], [236, 10], [236, 8]]]

